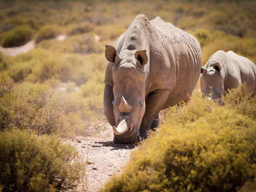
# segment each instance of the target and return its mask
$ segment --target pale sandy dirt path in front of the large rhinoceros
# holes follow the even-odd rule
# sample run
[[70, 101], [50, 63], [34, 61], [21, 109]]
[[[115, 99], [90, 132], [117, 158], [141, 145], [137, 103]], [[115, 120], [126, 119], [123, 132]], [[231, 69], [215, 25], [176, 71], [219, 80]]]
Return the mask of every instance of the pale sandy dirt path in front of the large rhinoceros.
[[78, 191], [97, 192], [113, 174], [120, 173], [130, 159], [131, 151], [136, 149], [134, 145], [114, 144], [112, 132], [112, 128], [108, 127], [98, 137], [76, 137], [66, 141], [93, 163], [87, 165], [87, 189], [81, 185]]

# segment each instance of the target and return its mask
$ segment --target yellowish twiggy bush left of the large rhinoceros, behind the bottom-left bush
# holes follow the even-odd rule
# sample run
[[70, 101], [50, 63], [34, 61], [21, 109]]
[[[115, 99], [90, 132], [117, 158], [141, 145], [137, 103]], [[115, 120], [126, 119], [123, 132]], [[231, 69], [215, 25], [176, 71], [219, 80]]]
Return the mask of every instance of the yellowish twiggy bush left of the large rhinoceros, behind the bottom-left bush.
[[23, 83], [8, 91], [1, 87], [0, 130], [17, 127], [38, 135], [69, 136], [88, 135], [98, 128], [94, 113], [76, 94], [58, 93], [41, 84]]

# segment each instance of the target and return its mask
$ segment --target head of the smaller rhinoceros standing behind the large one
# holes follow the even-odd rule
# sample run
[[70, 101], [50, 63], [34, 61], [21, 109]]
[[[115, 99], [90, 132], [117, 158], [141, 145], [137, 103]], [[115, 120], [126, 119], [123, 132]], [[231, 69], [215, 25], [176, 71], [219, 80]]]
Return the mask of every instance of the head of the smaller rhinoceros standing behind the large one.
[[207, 69], [201, 67], [201, 73], [200, 87], [203, 97], [209, 100], [213, 99], [219, 105], [223, 105], [224, 81], [221, 75], [221, 66], [215, 63]]

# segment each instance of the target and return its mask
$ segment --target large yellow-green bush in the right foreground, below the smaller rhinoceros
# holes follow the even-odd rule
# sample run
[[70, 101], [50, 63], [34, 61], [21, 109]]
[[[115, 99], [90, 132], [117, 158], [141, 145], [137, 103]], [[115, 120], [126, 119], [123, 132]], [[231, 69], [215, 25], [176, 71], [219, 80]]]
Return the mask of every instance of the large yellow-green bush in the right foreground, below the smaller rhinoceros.
[[[241, 88], [234, 92], [239, 97]], [[221, 107], [195, 93], [183, 108], [171, 108], [158, 133], [102, 191], [235, 191], [256, 176], [256, 122], [233, 105]]]

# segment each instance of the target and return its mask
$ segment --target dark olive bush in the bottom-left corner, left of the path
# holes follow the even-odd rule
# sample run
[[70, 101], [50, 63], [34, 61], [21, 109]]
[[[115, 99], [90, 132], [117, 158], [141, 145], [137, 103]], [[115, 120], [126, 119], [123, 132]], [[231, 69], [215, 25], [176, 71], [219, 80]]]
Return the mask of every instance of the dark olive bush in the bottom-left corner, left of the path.
[[85, 162], [58, 137], [1, 131], [0, 172], [3, 192], [67, 191], [83, 180]]

